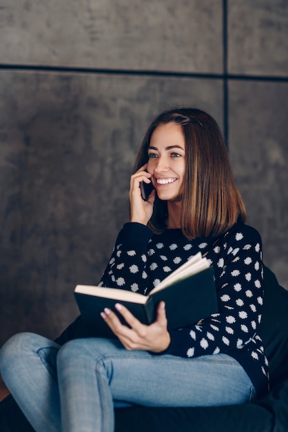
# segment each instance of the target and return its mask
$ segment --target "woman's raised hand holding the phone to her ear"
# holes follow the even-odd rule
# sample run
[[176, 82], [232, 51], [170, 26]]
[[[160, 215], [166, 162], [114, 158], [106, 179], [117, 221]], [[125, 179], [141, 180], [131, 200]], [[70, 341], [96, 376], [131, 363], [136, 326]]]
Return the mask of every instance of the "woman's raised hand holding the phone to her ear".
[[153, 206], [155, 201], [155, 190], [152, 190], [149, 198], [145, 201], [141, 197], [140, 184], [141, 181], [150, 183], [152, 175], [145, 171], [147, 164], [142, 166], [136, 173], [131, 176], [130, 181], [130, 211], [131, 222], [147, 225], [152, 217]]

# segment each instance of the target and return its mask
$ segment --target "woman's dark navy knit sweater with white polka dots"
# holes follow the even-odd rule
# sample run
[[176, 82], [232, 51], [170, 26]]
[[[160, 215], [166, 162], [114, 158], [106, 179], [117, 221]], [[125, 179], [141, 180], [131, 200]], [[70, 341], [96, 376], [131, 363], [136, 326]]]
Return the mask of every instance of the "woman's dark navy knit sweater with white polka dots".
[[165, 353], [192, 359], [226, 353], [243, 366], [258, 395], [265, 393], [268, 364], [257, 333], [263, 305], [262, 244], [254, 228], [239, 223], [220, 237], [189, 240], [181, 229], [155, 235], [145, 225], [127, 223], [100, 285], [147, 294], [199, 251], [214, 266], [219, 313], [171, 331]]

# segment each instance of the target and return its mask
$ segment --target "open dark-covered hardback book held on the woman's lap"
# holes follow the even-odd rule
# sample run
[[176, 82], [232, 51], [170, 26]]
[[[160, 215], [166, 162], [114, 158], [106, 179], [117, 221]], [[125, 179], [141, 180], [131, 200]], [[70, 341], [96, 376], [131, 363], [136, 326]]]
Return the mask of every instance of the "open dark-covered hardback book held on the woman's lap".
[[[143, 324], [152, 324], [158, 303], [163, 300], [168, 328], [172, 330], [195, 324], [218, 311], [213, 268], [200, 252], [165, 277], [148, 295], [90, 285], [77, 285], [74, 295], [91, 335], [99, 337], [112, 337], [100, 313], [105, 307], [116, 312], [114, 304], [117, 302], [126, 306]], [[119, 317], [124, 322], [121, 315]]]

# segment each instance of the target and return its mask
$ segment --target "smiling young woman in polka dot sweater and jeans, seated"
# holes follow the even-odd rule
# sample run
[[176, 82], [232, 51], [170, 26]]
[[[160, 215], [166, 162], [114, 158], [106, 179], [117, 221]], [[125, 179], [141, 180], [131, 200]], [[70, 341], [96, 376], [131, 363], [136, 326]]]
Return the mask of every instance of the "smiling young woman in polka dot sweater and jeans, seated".
[[[141, 182], [152, 182], [147, 201]], [[161, 113], [147, 130], [130, 185], [130, 222], [116, 239], [102, 286], [147, 294], [200, 251], [214, 266], [219, 313], [169, 331], [165, 304], [138, 322], [121, 304], [101, 314], [118, 339], [12, 337], [1, 375], [36, 431], [114, 429], [114, 407], [241, 404], [268, 389], [257, 334], [263, 303], [261, 239], [245, 225], [223, 137], [207, 113]]]

